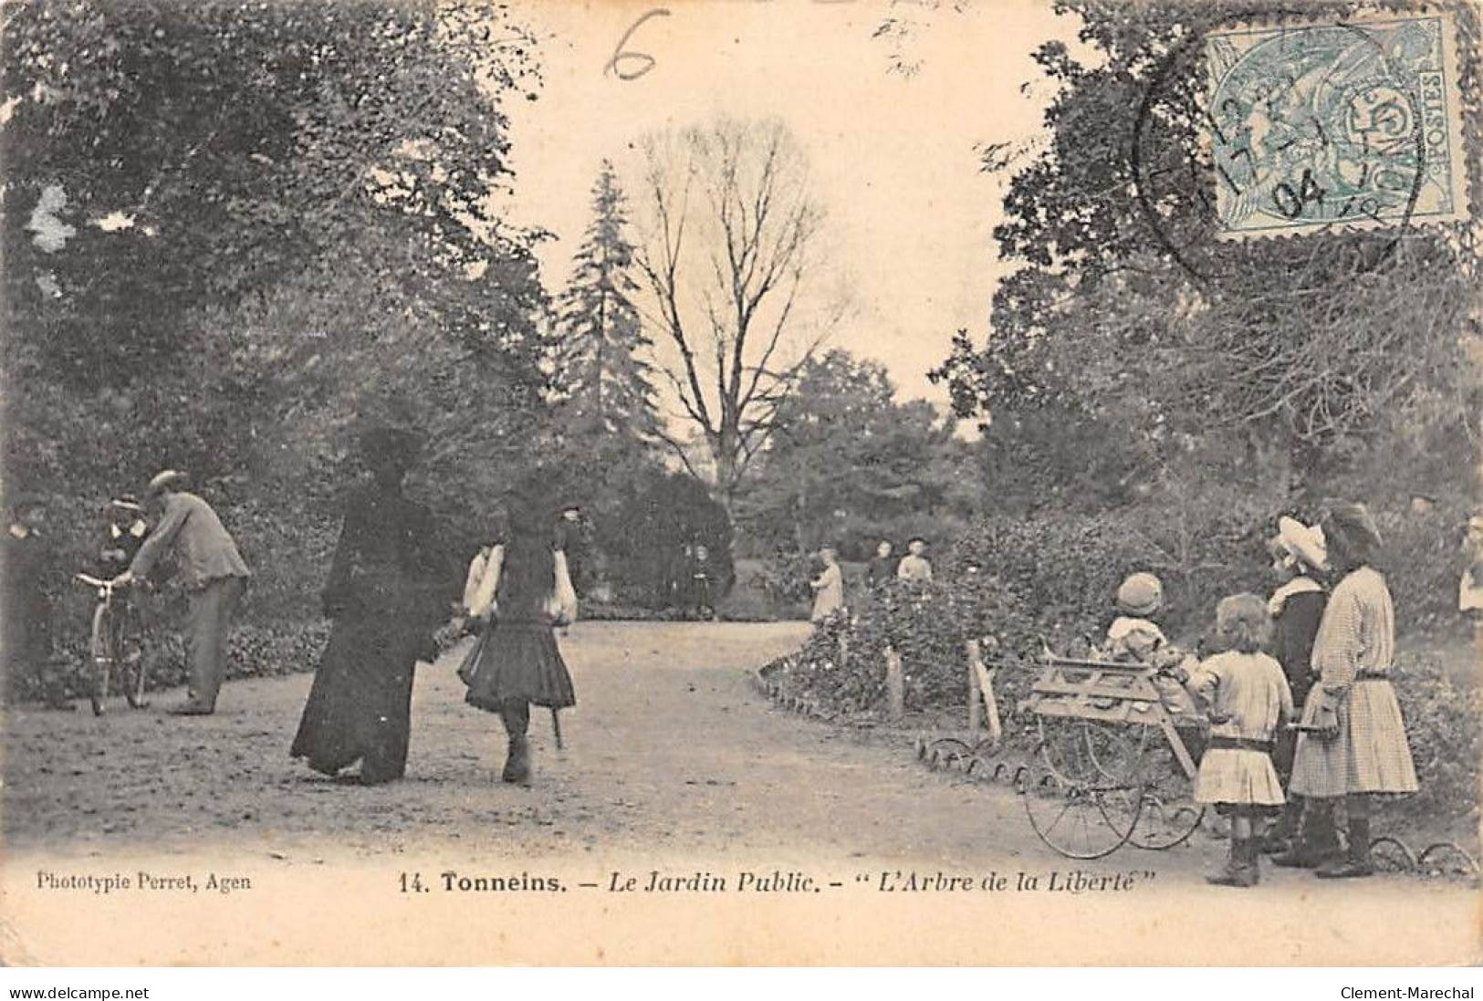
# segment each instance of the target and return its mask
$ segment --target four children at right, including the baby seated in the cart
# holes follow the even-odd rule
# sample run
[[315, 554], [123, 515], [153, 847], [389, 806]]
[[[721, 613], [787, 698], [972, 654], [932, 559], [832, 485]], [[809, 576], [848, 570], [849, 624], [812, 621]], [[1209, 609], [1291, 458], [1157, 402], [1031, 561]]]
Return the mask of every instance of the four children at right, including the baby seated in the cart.
[[[1318, 525], [1283, 518], [1269, 541], [1280, 586], [1265, 601], [1223, 598], [1203, 657], [1164, 638], [1157, 577], [1133, 574], [1118, 589], [1105, 653], [1158, 667], [1200, 758], [1195, 799], [1231, 819], [1229, 856], [1210, 882], [1256, 885], [1264, 853], [1324, 878], [1367, 876], [1372, 796], [1416, 790], [1390, 684], [1396, 626], [1372, 565], [1379, 544], [1361, 504], [1332, 503]], [[1189, 733], [1200, 718], [1207, 728]]]

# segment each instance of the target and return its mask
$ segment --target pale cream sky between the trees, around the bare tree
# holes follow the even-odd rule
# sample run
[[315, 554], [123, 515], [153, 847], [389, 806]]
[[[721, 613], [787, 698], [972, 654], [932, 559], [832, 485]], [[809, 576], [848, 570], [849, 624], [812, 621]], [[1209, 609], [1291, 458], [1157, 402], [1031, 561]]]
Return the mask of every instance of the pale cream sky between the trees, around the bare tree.
[[[544, 85], [538, 101], [509, 108], [509, 209], [559, 237], [541, 249], [547, 285], [569, 273], [604, 157], [632, 193], [639, 136], [718, 116], [776, 117], [802, 145], [826, 212], [820, 286], [851, 289], [829, 344], [882, 362], [903, 399], [945, 402], [925, 374], [958, 328], [985, 337], [998, 274], [1001, 187], [979, 169], [976, 147], [1040, 135], [1050, 93], [1029, 53], [1075, 24], [1028, 0], [667, 0], [669, 13], [639, 24], [626, 46], [651, 68], [632, 80], [605, 71], [651, 9], [516, 6], [546, 37]], [[908, 34], [872, 37], [887, 18]], [[897, 55], [915, 71], [893, 71]]]

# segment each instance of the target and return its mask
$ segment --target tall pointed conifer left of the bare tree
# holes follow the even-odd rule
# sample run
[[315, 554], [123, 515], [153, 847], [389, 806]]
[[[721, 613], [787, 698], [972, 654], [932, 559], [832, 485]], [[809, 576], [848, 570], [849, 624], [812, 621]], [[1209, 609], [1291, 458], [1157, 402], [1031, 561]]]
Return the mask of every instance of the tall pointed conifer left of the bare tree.
[[[648, 457], [658, 429], [650, 347], [632, 295], [633, 245], [612, 163], [592, 190], [593, 219], [559, 301], [553, 381], [561, 452], [602, 480]], [[596, 470], [593, 470], [593, 464]]]

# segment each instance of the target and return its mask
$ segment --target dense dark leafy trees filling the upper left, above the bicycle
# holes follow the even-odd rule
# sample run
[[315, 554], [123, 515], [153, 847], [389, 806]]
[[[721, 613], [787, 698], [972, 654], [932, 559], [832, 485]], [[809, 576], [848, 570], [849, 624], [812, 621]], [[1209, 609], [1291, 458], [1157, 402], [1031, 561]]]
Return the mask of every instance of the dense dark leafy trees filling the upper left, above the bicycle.
[[426, 432], [449, 552], [482, 535], [547, 420], [540, 234], [497, 211], [528, 33], [432, 0], [27, 0], [0, 44], [3, 479], [49, 503], [49, 586], [176, 466], [255, 569], [249, 621], [298, 629], [378, 417]]

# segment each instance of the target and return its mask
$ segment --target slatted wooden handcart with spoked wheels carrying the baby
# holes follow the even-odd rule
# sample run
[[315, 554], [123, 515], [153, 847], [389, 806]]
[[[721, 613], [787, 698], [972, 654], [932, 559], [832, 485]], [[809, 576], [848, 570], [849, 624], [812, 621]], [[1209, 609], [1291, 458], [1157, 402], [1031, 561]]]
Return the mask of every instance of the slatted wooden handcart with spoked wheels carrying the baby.
[[1041, 841], [1099, 859], [1124, 844], [1172, 848], [1195, 832], [1204, 808], [1180, 730], [1206, 724], [1178, 691], [1149, 664], [1044, 658], [1022, 704], [1038, 728], [1023, 799]]

